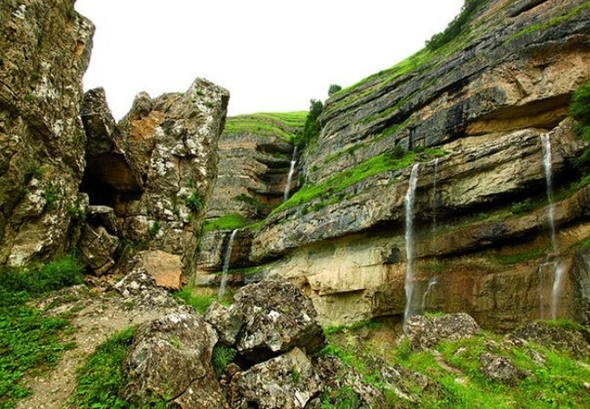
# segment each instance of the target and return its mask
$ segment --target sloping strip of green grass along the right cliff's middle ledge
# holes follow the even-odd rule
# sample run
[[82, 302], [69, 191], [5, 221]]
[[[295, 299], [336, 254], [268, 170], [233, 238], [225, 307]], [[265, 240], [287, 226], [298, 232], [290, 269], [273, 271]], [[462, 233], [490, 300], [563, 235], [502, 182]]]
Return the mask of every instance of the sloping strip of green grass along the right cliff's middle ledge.
[[[408, 151], [399, 155], [385, 152], [381, 155], [373, 156], [369, 160], [356, 165], [344, 172], [330, 177], [320, 185], [304, 185], [298, 192], [275, 208], [271, 214], [278, 213], [290, 207], [310, 203], [314, 199], [321, 198], [322, 201], [330, 201], [329, 204], [338, 202], [342, 197], [337, 194], [351, 185], [358, 184], [369, 176], [377, 175], [381, 172], [394, 171], [409, 165], [412, 165], [418, 158], [418, 155], [426, 154], [432, 157], [445, 155], [440, 149], [428, 148], [418, 152]], [[327, 204], [324, 204], [327, 205]], [[316, 209], [317, 210], [317, 209]]]

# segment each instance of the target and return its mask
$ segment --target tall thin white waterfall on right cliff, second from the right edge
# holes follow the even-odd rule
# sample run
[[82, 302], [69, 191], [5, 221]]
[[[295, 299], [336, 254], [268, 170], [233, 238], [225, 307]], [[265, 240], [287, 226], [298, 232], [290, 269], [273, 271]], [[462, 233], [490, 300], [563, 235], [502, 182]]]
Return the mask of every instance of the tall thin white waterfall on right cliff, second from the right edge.
[[404, 198], [404, 205], [406, 206], [406, 283], [404, 289], [406, 290], [406, 309], [404, 311], [404, 327], [408, 318], [413, 313], [412, 311], [412, 293], [414, 291], [414, 194], [416, 192], [416, 185], [418, 184], [418, 164], [412, 166], [412, 172], [409, 176], [408, 192]]

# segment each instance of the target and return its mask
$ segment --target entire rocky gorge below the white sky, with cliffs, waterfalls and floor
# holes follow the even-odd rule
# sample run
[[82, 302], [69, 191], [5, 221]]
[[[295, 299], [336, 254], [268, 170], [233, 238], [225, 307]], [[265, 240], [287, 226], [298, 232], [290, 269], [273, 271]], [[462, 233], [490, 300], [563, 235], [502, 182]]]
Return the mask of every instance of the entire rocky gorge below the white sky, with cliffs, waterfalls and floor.
[[[587, 1], [467, 0], [310, 113], [227, 117], [229, 91], [197, 78], [119, 122], [83, 92], [74, 2], [6, 0], [0, 21], [0, 315], [75, 317], [70, 373], [127, 328], [100, 407], [452, 407], [481, 379], [508, 391], [497, 407], [587, 402]], [[63, 257], [84, 278], [40, 290]], [[0, 364], [2, 387], [60, 390]], [[15, 390], [0, 405], [45, 403]]]

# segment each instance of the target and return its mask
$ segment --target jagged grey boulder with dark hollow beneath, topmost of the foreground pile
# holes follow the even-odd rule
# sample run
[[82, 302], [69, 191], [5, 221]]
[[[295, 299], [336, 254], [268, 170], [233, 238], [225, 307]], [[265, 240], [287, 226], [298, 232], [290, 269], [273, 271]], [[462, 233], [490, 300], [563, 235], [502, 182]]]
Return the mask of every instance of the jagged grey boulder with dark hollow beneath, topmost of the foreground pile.
[[310, 299], [280, 277], [246, 285], [234, 299], [228, 308], [211, 306], [205, 316], [226, 344], [235, 344], [251, 361], [261, 362], [294, 347], [313, 354], [325, 344]]

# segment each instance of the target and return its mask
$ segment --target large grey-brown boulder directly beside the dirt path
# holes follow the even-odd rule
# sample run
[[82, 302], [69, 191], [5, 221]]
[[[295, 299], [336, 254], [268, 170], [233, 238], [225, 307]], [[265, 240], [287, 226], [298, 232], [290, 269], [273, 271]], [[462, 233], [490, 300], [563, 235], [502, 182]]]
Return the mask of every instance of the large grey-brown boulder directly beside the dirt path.
[[123, 363], [125, 399], [141, 405], [157, 396], [183, 409], [224, 407], [211, 365], [216, 343], [211, 325], [188, 307], [141, 325]]

